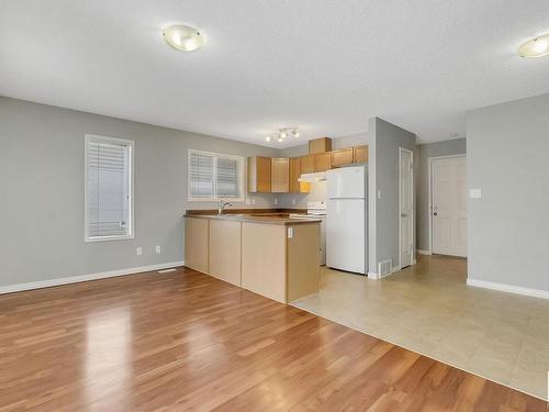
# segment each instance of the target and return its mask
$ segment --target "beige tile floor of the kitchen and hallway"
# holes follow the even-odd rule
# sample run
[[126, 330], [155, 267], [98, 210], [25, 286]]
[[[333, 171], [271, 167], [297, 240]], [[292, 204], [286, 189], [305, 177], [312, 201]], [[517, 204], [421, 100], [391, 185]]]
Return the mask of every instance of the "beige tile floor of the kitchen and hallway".
[[292, 304], [548, 399], [549, 300], [468, 287], [467, 261], [419, 256], [382, 280], [323, 268]]

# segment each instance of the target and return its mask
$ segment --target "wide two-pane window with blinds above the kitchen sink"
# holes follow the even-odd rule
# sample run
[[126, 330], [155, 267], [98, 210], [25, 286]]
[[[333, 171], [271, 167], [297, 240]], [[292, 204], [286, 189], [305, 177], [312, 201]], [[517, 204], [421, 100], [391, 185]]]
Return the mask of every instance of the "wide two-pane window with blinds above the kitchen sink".
[[244, 201], [244, 157], [189, 151], [189, 200]]

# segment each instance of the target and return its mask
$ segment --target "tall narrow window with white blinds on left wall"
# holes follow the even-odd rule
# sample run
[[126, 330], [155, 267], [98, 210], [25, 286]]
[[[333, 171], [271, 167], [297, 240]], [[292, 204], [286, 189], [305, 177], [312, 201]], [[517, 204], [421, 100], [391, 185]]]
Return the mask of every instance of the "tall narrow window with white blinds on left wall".
[[134, 143], [86, 135], [86, 242], [133, 238]]

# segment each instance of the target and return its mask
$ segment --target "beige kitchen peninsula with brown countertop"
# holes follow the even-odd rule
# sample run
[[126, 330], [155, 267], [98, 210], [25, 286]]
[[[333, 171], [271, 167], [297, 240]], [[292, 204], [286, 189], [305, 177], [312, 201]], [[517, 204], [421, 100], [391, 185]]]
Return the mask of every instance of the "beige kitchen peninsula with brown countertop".
[[194, 211], [184, 220], [187, 267], [282, 303], [318, 290], [320, 220]]

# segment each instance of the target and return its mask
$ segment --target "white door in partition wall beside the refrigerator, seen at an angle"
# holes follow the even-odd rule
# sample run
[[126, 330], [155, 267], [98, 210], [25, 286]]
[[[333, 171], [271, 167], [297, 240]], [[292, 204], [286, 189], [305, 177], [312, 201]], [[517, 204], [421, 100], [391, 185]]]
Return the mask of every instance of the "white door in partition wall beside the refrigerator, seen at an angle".
[[414, 236], [414, 196], [412, 152], [400, 147], [400, 267], [412, 265]]

